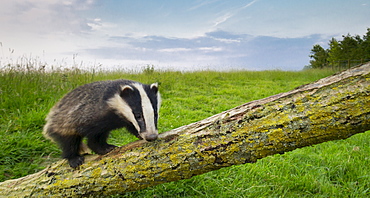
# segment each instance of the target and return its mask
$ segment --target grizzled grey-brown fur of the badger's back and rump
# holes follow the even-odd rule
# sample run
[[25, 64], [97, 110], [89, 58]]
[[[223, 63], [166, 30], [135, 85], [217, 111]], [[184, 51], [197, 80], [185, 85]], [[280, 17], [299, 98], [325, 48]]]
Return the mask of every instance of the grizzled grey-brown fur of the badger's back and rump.
[[52, 133], [82, 135], [77, 130], [79, 126], [101, 119], [108, 111], [102, 97], [112, 84], [111, 81], [93, 82], [67, 93], [50, 109], [43, 130], [45, 137], [51, 139]]

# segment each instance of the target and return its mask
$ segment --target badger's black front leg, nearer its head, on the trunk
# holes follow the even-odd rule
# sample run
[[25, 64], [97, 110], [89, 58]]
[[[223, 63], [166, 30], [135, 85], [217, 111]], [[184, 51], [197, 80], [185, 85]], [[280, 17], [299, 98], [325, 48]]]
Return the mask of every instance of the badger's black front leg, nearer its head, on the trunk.
[[109, 131], [107, 132], [92, 132], [88, 134], [87, 146], [99, 155], [104, 155], [113, 150], [116, 146], [107, 143]]

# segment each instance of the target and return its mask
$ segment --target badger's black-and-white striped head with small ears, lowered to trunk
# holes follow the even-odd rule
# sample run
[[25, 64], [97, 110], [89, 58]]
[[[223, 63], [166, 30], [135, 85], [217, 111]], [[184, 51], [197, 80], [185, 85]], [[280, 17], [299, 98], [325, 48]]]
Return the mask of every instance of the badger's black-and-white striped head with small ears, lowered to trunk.
[[152, 141], [158, 137], [158, 112], [161, 97], [158, 84], [138, 82], [122, 83], [119, 91], [107, 100], [114, 112], [130, 122], [142, 139]]

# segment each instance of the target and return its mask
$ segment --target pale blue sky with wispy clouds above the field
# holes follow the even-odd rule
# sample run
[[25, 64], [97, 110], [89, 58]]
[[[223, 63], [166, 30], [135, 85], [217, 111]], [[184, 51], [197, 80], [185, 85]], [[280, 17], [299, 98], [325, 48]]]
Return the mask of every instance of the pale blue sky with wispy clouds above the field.
[[0, 65], [301, 70], [313, 45], [367, 28], [370, 0], [8, 0]]

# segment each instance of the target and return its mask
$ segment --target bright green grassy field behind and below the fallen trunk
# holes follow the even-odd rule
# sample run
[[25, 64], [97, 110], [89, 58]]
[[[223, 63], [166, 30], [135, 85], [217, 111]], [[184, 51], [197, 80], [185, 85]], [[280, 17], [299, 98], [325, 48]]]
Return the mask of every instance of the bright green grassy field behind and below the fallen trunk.
[[[60, 159], [57, 146], [42, 136], [44, 118], [65, 93], [88, 82], [119, 78], [158, 82], [163, 97], [159, 130], [164, 132], [332, 73], [181, 73], [147, 68], [135, 74], [8, 68], [0, 72], [0, 181], [34, 173]], [[116, 145], [134, 140], [124, 129], [109, 139]], [[116, 197], [367, 197], [369, 164], [367, 132]]]

